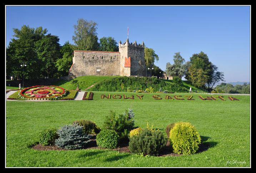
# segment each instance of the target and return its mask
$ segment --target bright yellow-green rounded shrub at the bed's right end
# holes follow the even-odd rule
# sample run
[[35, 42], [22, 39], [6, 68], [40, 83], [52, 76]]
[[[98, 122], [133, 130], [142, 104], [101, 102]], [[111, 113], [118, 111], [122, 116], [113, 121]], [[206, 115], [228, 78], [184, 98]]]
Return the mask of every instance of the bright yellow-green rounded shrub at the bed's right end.
[[201, 137], [190, 123], [178, 122], [170, 131], [169, 141], [175, 153], [191, 155], [198, 150]]

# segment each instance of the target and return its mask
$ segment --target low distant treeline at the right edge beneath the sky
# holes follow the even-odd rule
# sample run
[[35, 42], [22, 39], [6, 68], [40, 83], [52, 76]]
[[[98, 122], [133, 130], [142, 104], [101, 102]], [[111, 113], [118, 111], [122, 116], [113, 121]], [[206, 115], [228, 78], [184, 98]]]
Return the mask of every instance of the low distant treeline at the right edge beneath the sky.
[[227, 94], [250, 94], [250, 83], [244, 83], [244, 85], [235, 85], [231, 83], [221, 83], [216, 86], [214, 91], [216, 93], [227, 93]]

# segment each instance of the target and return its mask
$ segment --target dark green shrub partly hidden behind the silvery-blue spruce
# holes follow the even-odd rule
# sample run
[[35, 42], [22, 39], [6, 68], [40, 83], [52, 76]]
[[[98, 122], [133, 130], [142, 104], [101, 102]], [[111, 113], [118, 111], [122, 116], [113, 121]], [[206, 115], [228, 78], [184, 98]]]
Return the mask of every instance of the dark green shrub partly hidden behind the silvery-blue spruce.
[[100, 127], [97, 126], [96, 123], [91, 120], [78, 120], [78, 121], [74, 121], [73, 123], [83, 126], [82, 131], [84, 134], [87, 134], [87, 135], [89, 134], [96, 135], [101, 131]]

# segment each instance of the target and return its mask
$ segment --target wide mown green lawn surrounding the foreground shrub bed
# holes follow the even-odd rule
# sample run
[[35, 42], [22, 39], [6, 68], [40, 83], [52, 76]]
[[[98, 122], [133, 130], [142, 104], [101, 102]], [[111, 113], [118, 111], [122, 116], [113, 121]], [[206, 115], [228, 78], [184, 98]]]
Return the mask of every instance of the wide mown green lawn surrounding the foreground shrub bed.
[[[134, 95], [134, 99], [101, 99], [101, 94]], [[138, 95], [144, 95], [139, 99]], [[156, 94], [156, 93], [154, 93]], [[165, 99], [188, 93], [94, 92], [91, 101], [6, 101], [6, 167], [250, 167], [250, 96], [239, 101]], [[215, 96], [215, 95], [214, 95]], [[170, 123], [189, 121], [209, 146], [204, 152], [178, 157], [143, 157], [112, 150], [37, 151], [29, 147], [40, 131], [72, 121], [93, 120], [102, 127], [110, 110], [121, 114], [131, 108], [135, 125], [165, 131]]]

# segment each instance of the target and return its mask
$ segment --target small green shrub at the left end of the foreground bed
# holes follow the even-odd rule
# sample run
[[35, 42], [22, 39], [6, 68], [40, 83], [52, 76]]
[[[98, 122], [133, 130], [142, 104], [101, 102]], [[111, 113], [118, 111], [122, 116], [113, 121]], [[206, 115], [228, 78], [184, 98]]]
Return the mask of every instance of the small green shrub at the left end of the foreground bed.
[[39, 144], [45, 145], [54, 145], [55, 139], [58, 139], [58, 134], [56, 133], [56, 128], [45, 129], [39, 134]]

